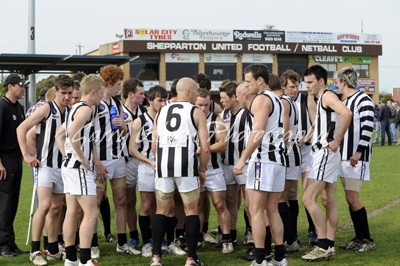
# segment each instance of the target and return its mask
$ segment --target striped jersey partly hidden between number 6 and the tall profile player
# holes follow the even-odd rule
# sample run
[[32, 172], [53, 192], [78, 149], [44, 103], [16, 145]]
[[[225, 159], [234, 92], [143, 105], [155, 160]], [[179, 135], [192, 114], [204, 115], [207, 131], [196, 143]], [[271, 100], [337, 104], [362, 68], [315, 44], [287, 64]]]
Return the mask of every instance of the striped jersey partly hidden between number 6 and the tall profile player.
[[222, 162], [225, 165], [235, 165], [246, 147], [246, 124], [249, 111], [241, 108], [236, 114], [232, 114], [225, 110], [222, 112], [222, 117], [227, 131], [226, 150]]

